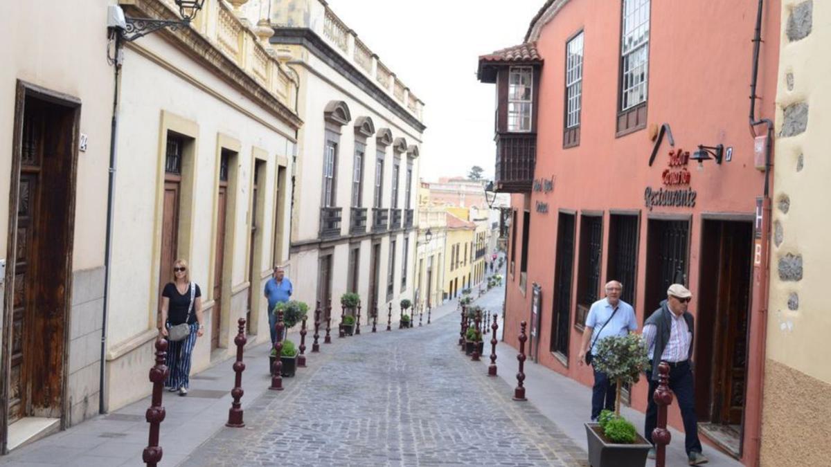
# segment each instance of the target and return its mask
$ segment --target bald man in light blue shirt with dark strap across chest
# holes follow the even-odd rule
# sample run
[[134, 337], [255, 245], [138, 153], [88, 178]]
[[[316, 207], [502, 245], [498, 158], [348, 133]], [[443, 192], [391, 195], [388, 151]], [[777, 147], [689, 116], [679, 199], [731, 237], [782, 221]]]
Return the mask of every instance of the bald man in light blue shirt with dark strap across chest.
[[[586, 352], [594, 353], [598, 341], [609, 336], [626, 336], [628, 332], [637, 331], [635, 310], [632, 305], [621, 300], [622, 288], [621, 283], [610, 281], [606, 284], [606, 298], [597, 300], [589, 308], [578, 356], [581, 366], [586, 360]], [[609, 381], [606, 373], [594, 370], [592, 420], [597, 420], [603, 409], [615, 410], [616, 389], [615, 383]]]

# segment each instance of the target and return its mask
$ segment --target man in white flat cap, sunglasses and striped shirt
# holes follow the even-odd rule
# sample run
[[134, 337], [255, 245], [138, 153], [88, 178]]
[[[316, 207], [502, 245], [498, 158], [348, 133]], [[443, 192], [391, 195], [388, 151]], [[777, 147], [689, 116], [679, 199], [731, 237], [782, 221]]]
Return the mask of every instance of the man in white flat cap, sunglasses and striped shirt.
[[[706, 464], [698, 440], [696, 419], [696, 391], [692, 378], [692, 337], [696, 326], [692, 314], [687, 311], [692, 293], [681, 284], [674, 283], [666, 289], [666, 300], [652, 313], [643, 325], [643, 337], [647, 344], [652, 363], [647, 394], [647, 420], [644, 434], [652, 443], [652, 430], [657, 424], [658, 407], [652, 394], [658, 386], [658, 364], [666, 361], [670, 366], [670, 389], [675, 393], [681, 419], [684, 420], [684, 447], [689, 465]], [[655, 448], [649, 451], [650, 459], [655, 457]]]

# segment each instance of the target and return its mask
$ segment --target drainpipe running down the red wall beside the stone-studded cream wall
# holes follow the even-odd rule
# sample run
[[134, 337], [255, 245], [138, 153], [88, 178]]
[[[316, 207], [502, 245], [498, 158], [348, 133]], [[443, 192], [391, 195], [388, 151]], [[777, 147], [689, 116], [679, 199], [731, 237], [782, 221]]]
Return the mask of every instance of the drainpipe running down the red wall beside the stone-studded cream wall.
[[[760, 376], [759, 381], [759, 396], [755, 406], [752, 408], [755, 413], [759, 414], [759, 421], [751, 428], [753, 430], [750, 441], [754, 445], [755, 455], [750, 460], [750, 465], [760, 465], [761, 462], [761, 429], [762, 420], [761, 412], [763, 406], [763, 398], [765, 396], [765, 348], [767, 347], [767, 324], [768, 324], [768, 301], [770, 298], [770, 216], [771, 216], [771, 178], [770, 169], [771, 150], [773, 146], [774, 137], [774, 122], [768, 118], [756, 120], [755, 104], [756, 104], [756, 84], [759, 74], [759, 49], [761, 44], [761, 30], [762, 30], [762, 12], [764, 10], [764, 0], [759, 0], [759, 5], [756, 10], [756, 23], [753, 36], [753, 62], [752, 75], [750, 77], [750, 134], [756, 137], [755, 127], [765, 125], [767, 130], [767, 141], [765, 144], [765, 185], [762, 191], [762, 215], [763, 223], [761, 226], [762, 235], [760, 238], [761, 248], [761, 264], [755, 270], [755, 299], [759, 302], [759, 309], [756, 319], [761, 320], [760, 323], [760, 351], [758, 352], [758, 362], [756, 364], [756, 371]], [[752, 326], [752, 318], [751, 318]], [[752, 327], [751, 327], [752, 328]], [[748, 349], [750, 350], [750, 349]]]

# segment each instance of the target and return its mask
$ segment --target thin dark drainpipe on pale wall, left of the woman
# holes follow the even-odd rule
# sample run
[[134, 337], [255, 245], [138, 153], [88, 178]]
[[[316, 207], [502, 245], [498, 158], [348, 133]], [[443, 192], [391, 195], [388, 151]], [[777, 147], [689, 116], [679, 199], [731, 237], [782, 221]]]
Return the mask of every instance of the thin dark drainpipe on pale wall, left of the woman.
[[104, 307], [101, 311], [101, 371], [98, 381], [98, 413], [106, 414], [104, 404], [104, 369], [106, 366], [106, 318], [110, 309], [110, 270], [112, 263], [113, 203], [116, 198], [116, 136], [118, 134], [118, 75], [121, 71], [121, 35], [115, 32], [116, 56], [113, 58], [112, 120], [110, 126], [110, 169], [107, 182], [106, 237], [104, 242]]

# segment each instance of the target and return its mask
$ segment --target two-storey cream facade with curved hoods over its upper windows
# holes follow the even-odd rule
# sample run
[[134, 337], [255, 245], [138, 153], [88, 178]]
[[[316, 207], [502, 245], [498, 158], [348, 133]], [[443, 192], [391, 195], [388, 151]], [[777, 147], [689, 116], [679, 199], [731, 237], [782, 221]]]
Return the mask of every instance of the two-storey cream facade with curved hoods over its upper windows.
[[311, 307], [357, 292], [366, 325], [414, 298], [422, 103], [326, 2], [274, 0], [271, 19], [304, 120], [288, 277]]

